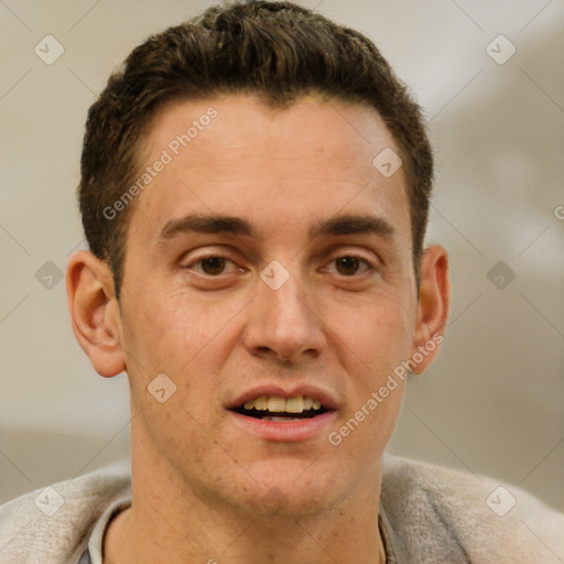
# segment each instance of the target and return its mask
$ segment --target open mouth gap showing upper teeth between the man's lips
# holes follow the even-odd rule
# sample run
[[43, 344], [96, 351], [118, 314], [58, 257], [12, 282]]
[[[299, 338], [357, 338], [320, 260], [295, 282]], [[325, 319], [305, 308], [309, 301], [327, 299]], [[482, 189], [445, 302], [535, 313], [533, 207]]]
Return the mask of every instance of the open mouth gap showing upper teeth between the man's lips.
[[232, 411], [247, 417], [275, 423], [305, 421], [323, 415], [328, 409], [316, 398], [297, 395], [259, 395], [247, 400]]

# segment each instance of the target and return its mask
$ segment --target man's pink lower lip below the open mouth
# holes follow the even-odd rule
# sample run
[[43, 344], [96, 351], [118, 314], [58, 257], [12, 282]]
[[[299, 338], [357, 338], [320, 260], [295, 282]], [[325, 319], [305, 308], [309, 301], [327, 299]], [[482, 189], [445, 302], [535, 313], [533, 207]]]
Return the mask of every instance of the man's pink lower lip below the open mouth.
[[319, 435], [326, 430], [335, 417], [335, 411], [326, 411], [315, 417], [302, 421], [263, 421], [261, 419], [248, 417], [235, 411], [229, 411], [234, 422], [240, 425], [246, 432], [259, 438], [279, 442], [307, 441]]

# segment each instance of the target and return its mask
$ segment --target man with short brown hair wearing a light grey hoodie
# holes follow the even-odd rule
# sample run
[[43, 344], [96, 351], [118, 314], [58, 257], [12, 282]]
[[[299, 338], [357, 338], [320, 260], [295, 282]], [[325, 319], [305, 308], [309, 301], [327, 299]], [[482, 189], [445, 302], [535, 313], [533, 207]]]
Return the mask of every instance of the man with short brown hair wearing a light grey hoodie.
[[432, 172], [377, 48], [303, 8], [135, 48], [88, 115], [67, 270], [80, 346], [128, 375], [131, 485], [6, 506], [2, 562], [558, 562], [564, 521], [525, 494], [500, 519], [490, 484], [383, 460], [448, 315]]

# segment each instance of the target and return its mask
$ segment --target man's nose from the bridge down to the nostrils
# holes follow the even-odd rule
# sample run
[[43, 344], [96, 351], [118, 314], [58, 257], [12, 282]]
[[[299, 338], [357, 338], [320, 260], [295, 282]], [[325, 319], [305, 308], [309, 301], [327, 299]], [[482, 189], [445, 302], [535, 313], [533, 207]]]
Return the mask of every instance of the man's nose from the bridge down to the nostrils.
[[300, 275], [291, 274], [276, 290], [262, 280], [257, 286], [242, 336], [247, 350], [278, 361], [317, 358], [326, 346], [324, 324]]

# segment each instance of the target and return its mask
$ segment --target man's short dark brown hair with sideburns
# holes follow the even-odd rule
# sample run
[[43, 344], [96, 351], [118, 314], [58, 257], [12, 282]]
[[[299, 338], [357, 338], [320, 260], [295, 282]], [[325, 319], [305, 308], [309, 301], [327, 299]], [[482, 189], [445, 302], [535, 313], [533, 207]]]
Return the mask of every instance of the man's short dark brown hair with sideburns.
[[404, 163], [416, 279], [425, 236], [433, 156], [419, 106], [373, 43], [355, 30], [290, 2], [216, 6], [149, 37], [112, 74], [86, 122], [78, 197], [90, 250], [122, 279], [133, 205], [108, 219], [141, 169], [143, 133], [176, 99], [257, 95], [288, 105], [307, 94], [373, 107]]

